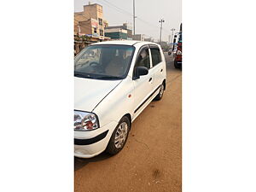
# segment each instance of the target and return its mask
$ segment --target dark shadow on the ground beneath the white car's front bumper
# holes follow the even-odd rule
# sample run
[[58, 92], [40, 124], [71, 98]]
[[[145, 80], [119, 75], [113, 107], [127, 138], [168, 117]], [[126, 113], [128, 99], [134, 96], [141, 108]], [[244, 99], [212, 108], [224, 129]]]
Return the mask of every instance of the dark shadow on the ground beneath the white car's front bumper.
[[108, 154], [107, 152], [102, 152], [102, 154], [98, 154], [97, 156], [90, 158], [90, 159], [84, 159], [84, 158], [78, 158], [74, 157], [74, 171], [78, 171], [79, 169], [83, 168], [90, 162], [97, 162], [101, 160], [106, 160], [108, 158], [112, 157], [111, 154]]

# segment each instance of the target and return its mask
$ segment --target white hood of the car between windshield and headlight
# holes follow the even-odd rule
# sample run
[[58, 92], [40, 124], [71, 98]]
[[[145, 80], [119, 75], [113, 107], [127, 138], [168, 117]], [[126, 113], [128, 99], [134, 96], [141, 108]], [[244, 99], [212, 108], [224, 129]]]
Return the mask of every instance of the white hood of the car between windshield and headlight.
[[122, 80], [74, 78], [74, 109], [92, 112]]

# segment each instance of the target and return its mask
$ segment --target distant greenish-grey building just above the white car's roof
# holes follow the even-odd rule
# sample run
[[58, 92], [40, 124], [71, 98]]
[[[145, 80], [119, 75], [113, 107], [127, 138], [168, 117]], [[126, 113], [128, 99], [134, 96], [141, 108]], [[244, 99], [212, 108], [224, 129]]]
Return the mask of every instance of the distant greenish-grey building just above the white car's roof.
[[112, 39], [131, 40], [132, 29], [127, 23], [124, 23], [123, 26], [108, 26], [105, 27], [105, 36]]

